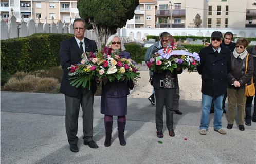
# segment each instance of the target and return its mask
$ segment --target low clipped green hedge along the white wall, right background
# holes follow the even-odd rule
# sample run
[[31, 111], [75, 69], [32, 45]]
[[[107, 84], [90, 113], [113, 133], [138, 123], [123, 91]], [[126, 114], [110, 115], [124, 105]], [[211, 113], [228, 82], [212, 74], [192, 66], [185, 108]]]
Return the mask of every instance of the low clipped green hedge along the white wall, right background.
[[[203, 36], [173, 36], [173, 37], [176, 41], [178, 41], [178, 40], [185, 41], [187, 38], [192, 38], [193, 40], [197, 40], [197, 39], [198, 40], [204, 40], [206, 38], [206, 42], [210, 42], [210, 38], [211, 38], [211, 37], [203, 37]], [[233, 41], [236, 38], [239, 38], [239, 37], [234, 37]], [[149, 40], [149, 39], [155, 39], [156, 41], [158, 41], [159, 36], [148, 35], [147, 40]], [[249, 42], [256, 41], [256, 38], [246, 38], [246, 39], [248, 39]]]

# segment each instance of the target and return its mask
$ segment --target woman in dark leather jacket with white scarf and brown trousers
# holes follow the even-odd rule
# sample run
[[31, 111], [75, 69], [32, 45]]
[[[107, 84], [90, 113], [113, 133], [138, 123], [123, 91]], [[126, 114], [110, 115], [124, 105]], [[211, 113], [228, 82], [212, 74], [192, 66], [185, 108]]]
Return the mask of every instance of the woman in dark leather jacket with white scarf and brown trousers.
[[[253, 58], [246, 51], [248, 40], [239, 38], [236, 48], [231, 54], [231, 70], [228, 73], [228, 129], [232, 129], [235, 119], [235, 107], [237, 106], [237, 117], [239, 130], [244, 131], [245, 117], [245, 84], [250, 84], [253, 75]], [[248, 56], [247, 73], [245, 73], [246, 57]]]

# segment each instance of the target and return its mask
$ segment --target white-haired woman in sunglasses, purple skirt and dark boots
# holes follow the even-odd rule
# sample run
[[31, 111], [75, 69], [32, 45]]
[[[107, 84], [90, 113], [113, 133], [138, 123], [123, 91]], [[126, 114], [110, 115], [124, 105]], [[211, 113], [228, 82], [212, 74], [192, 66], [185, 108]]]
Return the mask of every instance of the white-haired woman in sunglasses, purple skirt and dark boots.
[[[107, 46], [112, 50], [120, 50], [120, 58], [130, 59], [130, 54], [125, 52], [125, 48], [119, 36], [112, 35], [107, 40]], [[131, 88], [132, 89], [132, 88]], [[127, 114], [127, 95], [129, 95], [129, 85], [126, 80], [102, 83], [101, 114], [104, 114], [106, 138], [104, 145], [111, 145], [111, 133], [113, 116], [117, 116], [118, 138], [120, 145], [125, 146], [124, 128]]]

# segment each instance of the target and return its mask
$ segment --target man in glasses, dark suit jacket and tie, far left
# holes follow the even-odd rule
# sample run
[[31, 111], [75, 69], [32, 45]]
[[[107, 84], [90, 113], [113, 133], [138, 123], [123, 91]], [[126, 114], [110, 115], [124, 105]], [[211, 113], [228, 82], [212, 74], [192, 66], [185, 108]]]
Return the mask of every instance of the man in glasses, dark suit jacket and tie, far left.
[[86, 30], [83, 19], [75, 19], [73, 23], [74, 37], [61, 42], [60, 47], [60, 63], [63, 69], [63, 77], [61, 80], [61, 93], [65, 94], [66, 104], [66, 133], [70, 150], [78, 152], [78, 114], [80, 105], [83, 110], [83, 140], [84, 144], [91, 148], [98, 148], [98, 145], [93, 140], [93, 100], [96, 91], [95, 81], [92, 81], [91, 89], [76, 88], [70, 85], [68, 76], [68, 67], [81, 62], [81, 55], [84, 52], [95, 52], [97, 45], [93, 40], [84, 37]]

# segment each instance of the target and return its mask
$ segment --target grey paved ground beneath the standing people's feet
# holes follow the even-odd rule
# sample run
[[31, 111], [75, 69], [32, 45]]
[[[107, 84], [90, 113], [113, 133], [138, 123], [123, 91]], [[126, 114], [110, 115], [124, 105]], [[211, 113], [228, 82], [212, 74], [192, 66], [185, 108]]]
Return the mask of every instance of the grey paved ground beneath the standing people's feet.
[[[65, 133], [64, 96], [61, 94], [1, 92], [1, 163], [255, 163], [256, 124], [227, 135], [213, 131], [213, 114], [206, 136], [198, 133], [200, 102], [180, 101], [182, 115], [174, 115], [175, 137], [156, 137], [155, 108], [147, 99], [129, 98], [126, 146], [120, 146], [117, 125], [111, 147], [104, 147], [104, 123], [100, 97], [95, 96], [94, 140], [99, 149], [82, 142], [79, 118], [80, 151], [72, 153]], [[80, 111], [81, 114], [81, 111]], [[165, 114], [165, 113], [164, 113]], [[81, 116], [81, 115], [80, 115]], [[227, 126], [226, 114], [222, 118]], [[187, 138], [187, 140], [185, 140]], [[158, 141], [162, 141], [159, 144]]]

